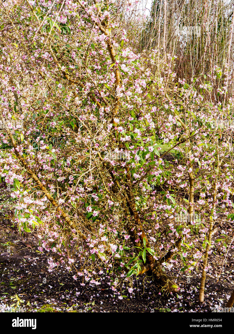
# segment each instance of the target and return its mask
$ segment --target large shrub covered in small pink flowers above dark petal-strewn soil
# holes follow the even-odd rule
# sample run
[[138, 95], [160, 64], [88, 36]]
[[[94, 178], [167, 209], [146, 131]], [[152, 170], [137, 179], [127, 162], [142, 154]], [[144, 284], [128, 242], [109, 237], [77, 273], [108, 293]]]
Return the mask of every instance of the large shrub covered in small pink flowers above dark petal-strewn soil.
[[115, 1], [8, 1], [1, 22], [1, 181], [49, 271], [111, 274], [113, 290], [148, 272], [176, 292], [166, 271], [202, 265], [205, 284], [226, 245], [214, 224], [233, 218], [233, 125], [219, 127], [233, 101], [208, 103], [174, 57], [134, 50]]

